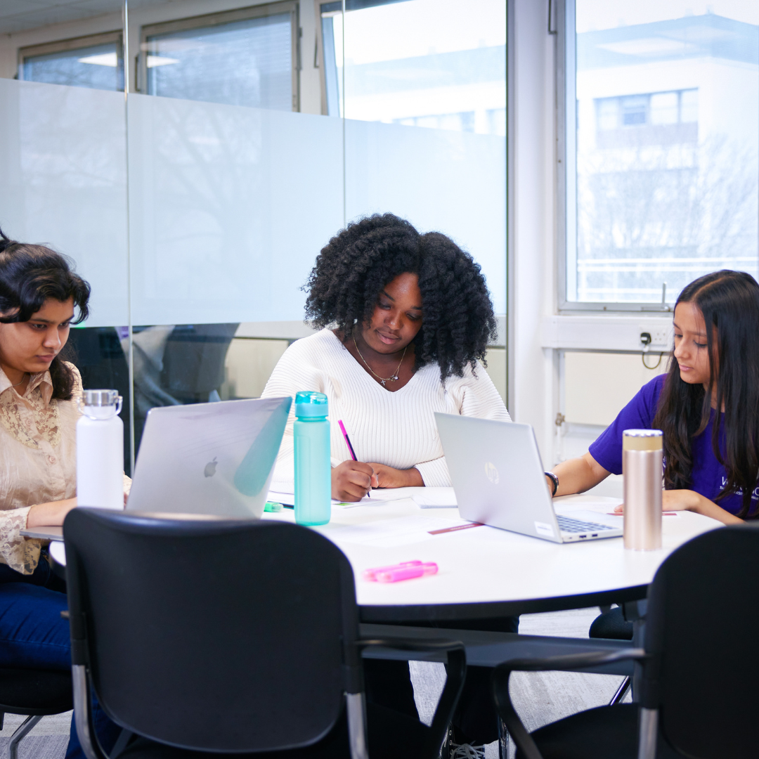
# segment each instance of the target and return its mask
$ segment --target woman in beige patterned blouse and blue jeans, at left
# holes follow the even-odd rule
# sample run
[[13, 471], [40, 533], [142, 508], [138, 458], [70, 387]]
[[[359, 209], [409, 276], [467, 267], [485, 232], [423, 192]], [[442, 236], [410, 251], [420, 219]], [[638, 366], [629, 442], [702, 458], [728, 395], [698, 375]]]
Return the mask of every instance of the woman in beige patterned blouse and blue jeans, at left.
[[[89, 298], [64, 257], [0, 230], [0, 667], [71, 669], [65, 584], [20, 531], [63, 524], [77, 505], [82, 385], [60, 354]], [[96, 731], [103, 748], [118, 734], [99, 709]], [[73, 720], [66, 757], [83, 757]]]

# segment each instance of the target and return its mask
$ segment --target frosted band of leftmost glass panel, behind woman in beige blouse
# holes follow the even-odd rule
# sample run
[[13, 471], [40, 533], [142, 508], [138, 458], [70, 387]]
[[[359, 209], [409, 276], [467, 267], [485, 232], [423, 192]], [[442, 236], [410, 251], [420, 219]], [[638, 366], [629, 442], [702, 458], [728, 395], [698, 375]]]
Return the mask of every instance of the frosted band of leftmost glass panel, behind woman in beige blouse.
[[124, 95], [0, 79], [0, 225], [68, 254], [87, 326], [128, 323]]

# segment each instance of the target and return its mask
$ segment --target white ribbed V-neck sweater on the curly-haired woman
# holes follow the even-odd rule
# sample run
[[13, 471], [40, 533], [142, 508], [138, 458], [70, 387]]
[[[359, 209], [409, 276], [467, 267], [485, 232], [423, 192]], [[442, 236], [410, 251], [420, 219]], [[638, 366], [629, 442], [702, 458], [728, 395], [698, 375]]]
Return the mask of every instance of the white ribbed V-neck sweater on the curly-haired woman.
[[323, 392], [329, 398], [332, 466], [351, 458], [338, 420], [342, 419], [359, 461], [396, 469], [416, 467], [427, 487], [449, 487], [446, 458], [435, 424], [435, 412], [511, 421], [487, 372], [440, 383], [437, 364], [428, 364], [407, 385], [389, 392], [376, 383], [330, 329], [294, 342], [274, 368], [263, 398], [291, 395], [285, 436], [279, 449], [272, 489], [288, 492], [294, 483], [294, 397], [300, 390]]

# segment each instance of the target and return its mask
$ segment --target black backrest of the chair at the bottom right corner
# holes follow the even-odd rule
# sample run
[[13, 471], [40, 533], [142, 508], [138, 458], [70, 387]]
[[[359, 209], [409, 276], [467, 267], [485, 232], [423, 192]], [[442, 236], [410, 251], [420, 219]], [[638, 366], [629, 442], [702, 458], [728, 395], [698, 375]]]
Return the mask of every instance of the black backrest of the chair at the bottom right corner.
[[759, 527], [716, 529], [661, 565], [649, 591], [643, 705], [685, 756], [759, 754]]

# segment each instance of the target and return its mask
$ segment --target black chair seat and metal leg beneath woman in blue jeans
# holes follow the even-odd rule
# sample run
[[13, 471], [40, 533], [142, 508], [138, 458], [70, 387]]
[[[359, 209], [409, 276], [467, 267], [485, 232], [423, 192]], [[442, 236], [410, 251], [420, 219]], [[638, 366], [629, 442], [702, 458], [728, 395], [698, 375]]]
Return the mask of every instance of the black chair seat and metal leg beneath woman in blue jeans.
[[18, 745], [43, 718], [74, 708], [71, 672], [55, 669], [0, 669], [0, 729], [5, 714], [27, 719], [15, 729], [8, 743], [8, 759], [17, 759]]

